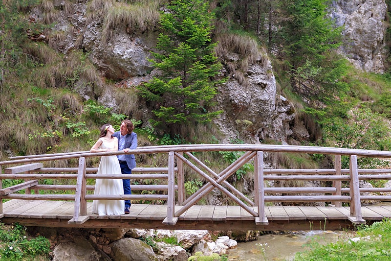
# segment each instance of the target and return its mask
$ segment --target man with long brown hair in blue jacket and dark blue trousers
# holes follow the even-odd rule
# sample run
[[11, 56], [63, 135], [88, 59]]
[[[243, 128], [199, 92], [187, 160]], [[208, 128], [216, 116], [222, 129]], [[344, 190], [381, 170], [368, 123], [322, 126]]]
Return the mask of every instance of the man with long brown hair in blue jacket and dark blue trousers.
[[[118, 139], [118, 150], [128, 152], [137, 147], [137, 134], [133, 132], [134, 126], [129, 119], [121, 123], [119, 131], [114, 132], [113, 137]], [[131, 174], [131, 169], [136, 166], [136, 159], [133, 154], [117, 155], [122, 174]], [[123, 179], [124, 194], [131, 194], [130, 179]], [[125, 200], [125, 214], [129, 214], [130, 200]]]

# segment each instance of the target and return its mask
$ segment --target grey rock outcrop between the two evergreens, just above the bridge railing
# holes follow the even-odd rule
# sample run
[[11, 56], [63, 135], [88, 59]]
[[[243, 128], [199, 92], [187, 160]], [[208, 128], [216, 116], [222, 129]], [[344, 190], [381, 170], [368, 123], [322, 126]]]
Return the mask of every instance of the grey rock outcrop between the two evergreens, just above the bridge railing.
[[249, 66], [245, 86], [230, 78], [218, 87], [217, 110], [223, 113], [214, 122], [225, 134], [225, 142], [237, 138], [253, 144], [264, 139], [286, 141], [292, 134], [289, 122], [295, 115], [285, 98], [276, 97], [271, 71], [270, 61], [259, 57], [258, 63]]

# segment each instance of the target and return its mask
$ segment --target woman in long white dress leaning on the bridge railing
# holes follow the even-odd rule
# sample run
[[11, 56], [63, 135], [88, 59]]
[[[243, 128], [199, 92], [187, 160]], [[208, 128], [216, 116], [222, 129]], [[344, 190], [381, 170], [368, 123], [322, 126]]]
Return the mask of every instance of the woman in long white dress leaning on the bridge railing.
[[[118, 140], [112, 137], [113, 126], [105, 124], [101, 128], [99, 140], [92, 146], [90, 152], [117, 151]], [[118, 158], [115, 155], [102, 156], [97, 174], [121, 174]], [[124, 187], [121, 179], [96, 179], [95, 195], [123, 195]], [[121, 215], [124, 213], [124, 200], [93, 200], [92, 213], [99, 215]]]

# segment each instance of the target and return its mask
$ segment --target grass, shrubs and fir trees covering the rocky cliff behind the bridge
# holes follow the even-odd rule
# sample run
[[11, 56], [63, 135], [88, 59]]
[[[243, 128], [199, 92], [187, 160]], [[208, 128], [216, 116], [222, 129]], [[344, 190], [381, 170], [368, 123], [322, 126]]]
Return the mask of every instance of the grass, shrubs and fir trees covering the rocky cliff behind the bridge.
[[[136, 101], [137, 95], [150, 104], [150, 121], [155, 123], [148, 126], [136, 121], [144, 144], [218, 142], [213, 135], [199, 139], [201, 132], [211, 132], [210, 123], [205, 121], [219, 113], [210, 106], [219, 83], [216, 76], [222, 61], [217, 57], [224, 57], [226, 51], [239, 53], [238, 68], [226, 61], [224, 66], [245, 85], [248, 65], [260, 56], [262, 46], [272, 57], [278, 91], [288, 97], [297, 121], [303, 120], [310, 133], [307, 142], [390, 148], [388, 138], [376, 142], [389, 130], [379, 120], [390, 117], [388, 74], [378, 77], [357, 71], [336, 54], [341, 28], [326, 16], [325, 0], [221, 0], [210, 1], [209, 5], [185, 0], [87, 2], [86, 17], [89, 22], [102, 24], [103, 42], [110, 39], [110, 31], [123, 24], [133, 26], [130, 32], [156, 30], [159, 8], [165, 6], [161, 9], [161, 34], [153, 60], [162, 73], [140, 86], [138, 94], [135, 90], [116, 89], [112, 80], [102, 79], [80, 44], [75, 43], [67, 55], [52, 48], [56, 39], [65, 36], [52, 30], [51, 24], [57, 21], [60, 11], [72, 12], [72, 2], [66, 1], [60, 9], [50, 1], [33, 0], [10, 0], [1, 6], [3, 158], [5, 150], [17, 155], [87, 150], [100, 124], [110, 121], [117, 125], [125, 117], [136, 116], [137, 107], [129, 108], [123, 102]], [[33, 8], [40, 9], [45, 19], [36, 21], [30, 16]], [[139, 13], [145, 15], [136, 19]], [[222, 45], [216, 47], [215, 41]], [[90, 88], [94, 96], [87, 100], [80, 97], [76, 90], [83, 86]], [[116, 111], [96, 102], [105, 89], [115, 94], [119, 102]], [[355, 109], [357, 106], [360, 108]], [[357, 110], [372, 120], [354, 124], [360, 118]], [[159, 124], [162, 122], [165, 124]], [[193, 129], [199, 126], [197, 141], [193, 135], [181, 136], [188, 130], [184, 124]], [[366, 130], [365, 134], [360, 128]], [[341, 141], [349, 132], [355, 137], [348, 143]], [[75, 137], [79, 139], [76, 143], [72, 142]]]

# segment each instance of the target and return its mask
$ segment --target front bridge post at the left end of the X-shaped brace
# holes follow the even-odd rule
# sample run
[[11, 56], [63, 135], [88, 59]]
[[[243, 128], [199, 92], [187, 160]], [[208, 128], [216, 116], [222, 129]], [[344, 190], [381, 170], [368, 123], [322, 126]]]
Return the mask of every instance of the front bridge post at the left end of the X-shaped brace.
[[168, 153], [168, 200], [167, 216], [163, 220], [166, 225], [175, 225], [178, 218], [174, 218], [175, 213], [175, 168], [174, 151]]

